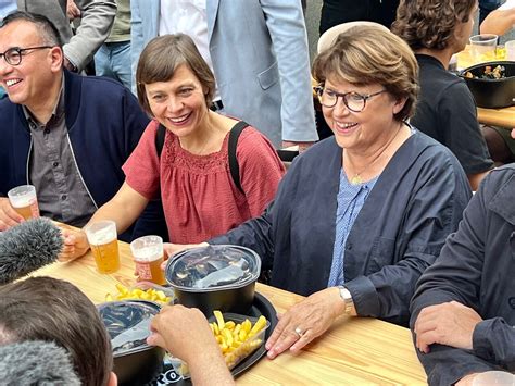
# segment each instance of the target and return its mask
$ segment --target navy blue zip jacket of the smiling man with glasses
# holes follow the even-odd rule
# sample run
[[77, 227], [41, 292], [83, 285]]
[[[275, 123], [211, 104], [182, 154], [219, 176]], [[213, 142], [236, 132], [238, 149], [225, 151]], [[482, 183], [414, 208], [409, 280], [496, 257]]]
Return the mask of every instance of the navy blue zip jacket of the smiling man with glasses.
[[[125, 180], [122, 165], [149, 119], [130, 90], [105, 77], [64, 71], [65, 120], [77, 169], [97, 208]], [[22, 105], [0, 101], [0, 196], [29, 184], [30, 130]], [[37, 187], [36, 187], [37, 188]], [[55, 198], [58, 199], [58, 197]]]

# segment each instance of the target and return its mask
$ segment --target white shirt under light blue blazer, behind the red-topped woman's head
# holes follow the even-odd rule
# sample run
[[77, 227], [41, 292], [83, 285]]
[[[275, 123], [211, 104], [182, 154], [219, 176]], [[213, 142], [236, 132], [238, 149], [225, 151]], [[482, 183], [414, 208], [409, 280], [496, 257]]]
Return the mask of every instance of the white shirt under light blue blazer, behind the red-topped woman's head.
[[[193, 39], [200, 54], [205, 60], [211, 71], [213, 62], [210, 54], [208, 39], [206, 0], [161, 0], [159, 21], [159, 35], [183, 33]], [[216, 87], [213, 100], [219, 100]]]

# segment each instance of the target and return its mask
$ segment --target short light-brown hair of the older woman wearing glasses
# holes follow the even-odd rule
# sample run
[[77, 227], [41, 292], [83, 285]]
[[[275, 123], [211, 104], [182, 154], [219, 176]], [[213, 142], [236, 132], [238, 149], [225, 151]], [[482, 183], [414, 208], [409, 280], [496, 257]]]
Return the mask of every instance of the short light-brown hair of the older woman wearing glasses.
[[332, 76], [357, 86], [379, 84], [393, 98], [406, 98], [395, 120], [403, 121], [414, 112], [418, 64], [410, 47], [384, 28], [361, 25], [341, 33], [316, 57], [313, 75], [319, 84]]

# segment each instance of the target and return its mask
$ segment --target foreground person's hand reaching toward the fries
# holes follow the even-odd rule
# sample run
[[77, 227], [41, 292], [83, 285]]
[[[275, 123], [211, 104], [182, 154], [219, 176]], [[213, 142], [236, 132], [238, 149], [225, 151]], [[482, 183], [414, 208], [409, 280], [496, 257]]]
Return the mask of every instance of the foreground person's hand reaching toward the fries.
[[165, 306], [152, 319], [150, 331], [149, 345], [160, 346], [188, 364], [194, 363], [205, 351], [222, 356], [208, 320], [199, 309]]

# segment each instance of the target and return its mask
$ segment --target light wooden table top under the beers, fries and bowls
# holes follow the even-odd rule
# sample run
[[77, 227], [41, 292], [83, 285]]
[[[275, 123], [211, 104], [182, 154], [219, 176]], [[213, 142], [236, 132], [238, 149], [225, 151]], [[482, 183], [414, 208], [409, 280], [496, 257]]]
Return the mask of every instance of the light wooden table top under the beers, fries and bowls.
[[[97, 273], [92, 254], [71, 263], [55, 263], [33, 275], [66, 279], [80, 288], [95, 303], [115, 284], [134, 284], [134, 263], [129, 247], [120, 242], [121, 269], [111, 275]], [[258, 284], [278, 312], [302, 299], [301, 296]], [[239, 385], [423, 385], [426, 375], [412, 345], [410, 331], [374, 319], [342, 317], [323, 337], [299, 354], [266, 358], [237, 378]]]

